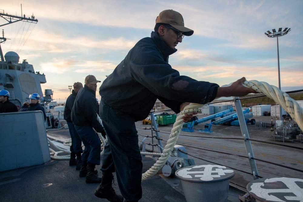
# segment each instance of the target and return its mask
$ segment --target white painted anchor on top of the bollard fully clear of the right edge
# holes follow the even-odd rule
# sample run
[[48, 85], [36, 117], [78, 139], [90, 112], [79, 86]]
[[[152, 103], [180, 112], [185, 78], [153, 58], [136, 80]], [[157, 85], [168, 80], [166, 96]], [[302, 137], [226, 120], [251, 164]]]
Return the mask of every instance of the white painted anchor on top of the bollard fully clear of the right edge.
[[[204, 171], [190, 171], [193, 168], [201, 168], [204, 167]], [[216, 168], [215, 170], [212, 170]], [[223, 170], [222, 168], [226, 168], [225, 166], [218, 165], [199, 165], [194, 166], [192, 168], [183, 168], [178, 171], [178, 175], [184, 178], [192, 178], [190, 174], [196, 174], [195, 177], [201, 177], [202, 181], [210, 181], [213, 180], [214, 177], [221, 177], [225, 175], [225, 173], [233, 173], [233, 170]], [[212, 175], [212, 173], [218, 173], [217, 175]]]

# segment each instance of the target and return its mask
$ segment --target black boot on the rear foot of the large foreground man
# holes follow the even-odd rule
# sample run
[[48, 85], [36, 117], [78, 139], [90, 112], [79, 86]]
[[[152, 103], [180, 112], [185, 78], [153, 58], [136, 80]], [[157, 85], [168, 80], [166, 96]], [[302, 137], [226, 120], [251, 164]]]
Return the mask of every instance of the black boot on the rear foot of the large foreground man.
[[111, 174], [102, 175], [102, 182], [99, 184], [95, 190], [95, 196], [99, 198], [106, 198], [111, 202], [122, 202], [123, 197], [115, 193], [115, 190], [112, 187], [112, 181], [114, 176]]

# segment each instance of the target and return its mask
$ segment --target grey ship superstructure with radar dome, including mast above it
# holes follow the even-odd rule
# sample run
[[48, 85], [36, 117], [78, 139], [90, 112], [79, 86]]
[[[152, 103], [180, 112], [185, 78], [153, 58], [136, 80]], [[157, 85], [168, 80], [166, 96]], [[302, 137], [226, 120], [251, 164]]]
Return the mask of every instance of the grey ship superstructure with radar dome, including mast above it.
[[[33, 15], [31, 18], [26, 18], [25, 15], [20, 17], [5, 14], [4, 10], [0, 10], [0, 17], [7, 21], [7, 23], [3, 25], [18, 21], [38, 22]], [[38, 93], [40, 95], [40, 104], [45, 107], [52, 101], [52, 90], [46, 89], [44, 93], [42, 92], [40, 84], [46, 83], [44, 73], [40, 73], [39, 71], [35, 72], [33, 65], [29, 64], [26, 60], [20, 63], [20, 57], [16, 52], [9, 51], [3, 56], [1, 44], [5, 41], [6, 38], [2, 30], [2, 37], [0, 37], [0, 90], [7, 90], [10, 94], [10, 101], [16, 104], [18, 108], [21, 108], [25, 101], [30, 101], [28, 98], [30, 94]], [[45, 125], [46, 127], [50, 127], [49, 118]]]

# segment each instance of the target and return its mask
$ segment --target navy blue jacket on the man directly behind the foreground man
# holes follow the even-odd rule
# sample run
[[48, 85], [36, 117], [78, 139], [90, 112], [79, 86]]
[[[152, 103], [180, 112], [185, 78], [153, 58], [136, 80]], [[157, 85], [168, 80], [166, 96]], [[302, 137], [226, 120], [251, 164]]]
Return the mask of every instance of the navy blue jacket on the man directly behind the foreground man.
[[78, 92], [72, 108], [72, 122], [76, 126], [89, 125], [98, 133], [104, 133], [104, 128], [97, 120], [96, 92], [84, 84], [84, 88]]

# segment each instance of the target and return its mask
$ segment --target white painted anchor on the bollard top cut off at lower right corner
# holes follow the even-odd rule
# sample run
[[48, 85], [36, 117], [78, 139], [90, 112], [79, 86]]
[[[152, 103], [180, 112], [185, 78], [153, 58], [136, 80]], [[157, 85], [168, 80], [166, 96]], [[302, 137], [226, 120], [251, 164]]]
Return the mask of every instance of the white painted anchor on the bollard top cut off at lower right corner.
[[[271, 183], [277, 181], [284, 183], [288, 187], [288, 189], [264, 189], [261, 187], [264, 186], [264, 183]], [[264, 198], [265, 200], [277, 201], [277, 202], [286, 202], [286, 201], [273, 196], [272, 193], [293, 193], [296, 196], [284, 196], [284, 198], [286, 200], [303, 202], [303, 189], [300, 188], [295, 182], [303, 182], [303, 180], [297, 178], [287, 178], [287, 177], [270, 178], [270, 179], [266, 179], [264, 183], [263, 182], [252, 183], [250, 192], [258, 197]]]

